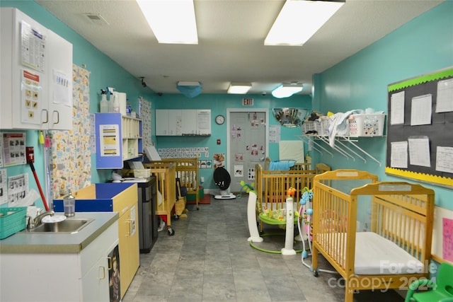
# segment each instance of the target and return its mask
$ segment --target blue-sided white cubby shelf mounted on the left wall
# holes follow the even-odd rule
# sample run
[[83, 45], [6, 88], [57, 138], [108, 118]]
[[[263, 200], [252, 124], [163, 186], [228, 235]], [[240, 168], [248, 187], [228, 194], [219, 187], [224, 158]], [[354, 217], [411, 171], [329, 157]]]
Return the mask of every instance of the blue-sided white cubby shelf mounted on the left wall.
[[143, 153], [142, 120], [121, 113], [96, 113], [96, 168], [123, 168]]

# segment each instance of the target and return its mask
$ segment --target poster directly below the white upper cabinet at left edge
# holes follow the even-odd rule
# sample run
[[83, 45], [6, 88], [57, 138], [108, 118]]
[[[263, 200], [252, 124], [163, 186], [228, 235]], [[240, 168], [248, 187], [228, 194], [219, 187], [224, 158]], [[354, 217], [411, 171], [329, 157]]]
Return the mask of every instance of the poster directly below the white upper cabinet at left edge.
[[2, 137], [4, 166], [27, 163], [25, 133], [4, 133]]

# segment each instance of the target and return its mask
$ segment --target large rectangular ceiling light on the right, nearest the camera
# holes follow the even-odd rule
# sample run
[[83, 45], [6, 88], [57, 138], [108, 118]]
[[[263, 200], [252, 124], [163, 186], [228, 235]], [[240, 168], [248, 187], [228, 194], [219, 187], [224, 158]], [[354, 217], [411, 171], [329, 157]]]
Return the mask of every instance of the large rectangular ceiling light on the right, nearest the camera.
[[303, 45], [343, 4], [344, 1], [287, 0], [264, 45]]

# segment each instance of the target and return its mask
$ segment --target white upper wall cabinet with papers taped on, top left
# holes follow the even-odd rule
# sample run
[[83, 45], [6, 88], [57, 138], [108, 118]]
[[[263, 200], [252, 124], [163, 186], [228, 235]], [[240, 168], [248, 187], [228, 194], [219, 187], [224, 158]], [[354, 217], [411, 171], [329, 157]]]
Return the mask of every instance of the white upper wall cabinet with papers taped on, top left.
[[72, 45], [1, 8], [1, 129], [72, 129]]

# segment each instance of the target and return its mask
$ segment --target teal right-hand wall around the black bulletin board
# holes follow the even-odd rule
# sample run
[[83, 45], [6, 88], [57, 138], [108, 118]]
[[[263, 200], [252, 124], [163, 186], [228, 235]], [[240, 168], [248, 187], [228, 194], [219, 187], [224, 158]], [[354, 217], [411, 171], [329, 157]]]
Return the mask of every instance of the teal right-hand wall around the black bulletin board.
[[[345, 112], [357, 108], [386, 112], [388, 84], [453, 66], [452, 16], [453, 1], [445, 1], [352, 57], [314, 75], [313, 108], [321, 112]], [[376, 173], [379, 180], [402, 180], [384, 172], [384, 137], [363, 138], [358, 145], [382, 165], [369, 158], [367, 163], [360, 158], [346, 160], [338, 153], [331, 157], [315, 152], [314, 156], [333, 169], [357, 168]], [[422, 185], [435, 190], [438, 206], [453, 209], [451, 189]]]

